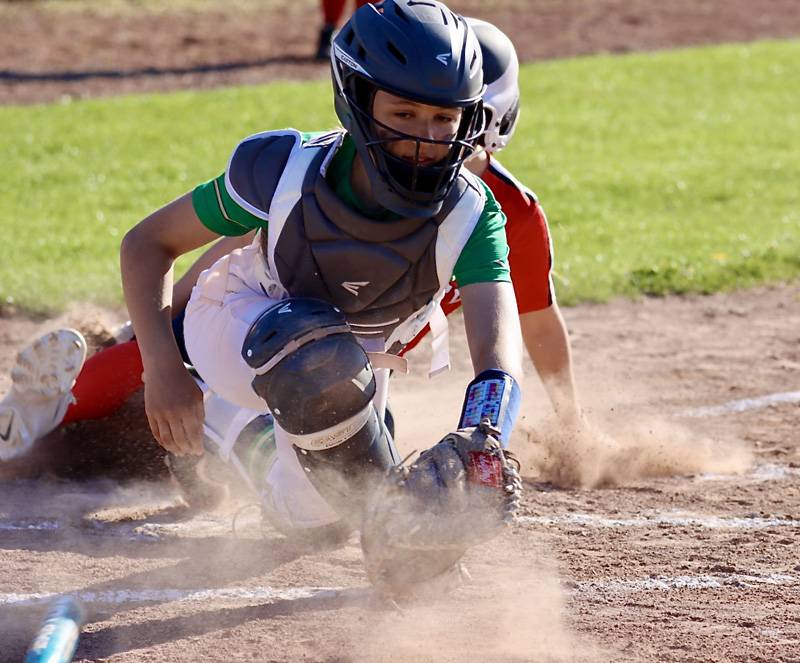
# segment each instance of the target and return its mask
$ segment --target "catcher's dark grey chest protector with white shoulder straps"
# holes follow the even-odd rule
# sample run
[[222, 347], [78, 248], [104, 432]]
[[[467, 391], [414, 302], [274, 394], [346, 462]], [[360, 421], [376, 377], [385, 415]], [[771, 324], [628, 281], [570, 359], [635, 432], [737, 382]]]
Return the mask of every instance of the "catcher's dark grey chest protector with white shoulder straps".
[[[288, 132], [281, 133], [277, 140], [285, 152]], [[278, 182], [268, 182], [261, 172], [251, 180], [262, 191], [262, 204], [265, 189], [273, 194], [261, 249], [268, 272], [289, 295], [323, 299], [345, 313], [356, 335], [385, 343], [449, 283], [480, 218], [483, 193], [460, 177], [435, 217], [370, 219], [340, 200], [325, 180], [343, 138], [334, 132], [295, 143], [282, 171], [273, 169]], [[402, 342], [392, 349], [400, 347]]]

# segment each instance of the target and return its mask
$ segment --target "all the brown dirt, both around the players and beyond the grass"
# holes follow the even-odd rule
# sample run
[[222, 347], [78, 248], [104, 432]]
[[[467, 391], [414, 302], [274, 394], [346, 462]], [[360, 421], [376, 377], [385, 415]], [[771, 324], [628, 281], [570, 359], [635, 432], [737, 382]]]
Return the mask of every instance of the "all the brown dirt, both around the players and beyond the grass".
[[[258, 21], [0, 4], [13, 35], [0, 103], [325, 75], [296, 19], [314, 3], [266, 4]], [[453, 4], [495, 20], [526, 59], [800, 33], [793, 0]], [[0, 393], [35, 334], [70, 324], [97, 343], [121, 314], [2, 315]], [[236, 516], [241, 500], [190, 512], [133, 402], [114, 425], [73, 426], [0, 467], [0, 661], [22, 660], [59, 592], [88, 610], [87, 661], [800, 661], [800, 286], [565, 316], [597, 434], [559, 436], [526, 366], [512, 442], [523, 518], [469, 553], [471, 584], [388, 605], [355, 537], [311, 550], [262, 536], [254, 511]], [[423, 349], [397, 380], [403, 450], [456, 416], [470, 369], [453, 326], [449, 375], [428, 381]]]

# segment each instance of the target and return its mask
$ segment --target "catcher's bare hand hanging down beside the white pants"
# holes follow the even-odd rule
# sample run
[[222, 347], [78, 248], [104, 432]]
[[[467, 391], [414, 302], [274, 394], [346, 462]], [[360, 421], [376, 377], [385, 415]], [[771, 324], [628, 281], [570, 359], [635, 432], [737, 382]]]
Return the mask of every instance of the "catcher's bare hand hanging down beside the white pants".
[[153, 436], [167, 451], [203, 454], [203, 392], [182, 364], [145, 375], [144, 407]]

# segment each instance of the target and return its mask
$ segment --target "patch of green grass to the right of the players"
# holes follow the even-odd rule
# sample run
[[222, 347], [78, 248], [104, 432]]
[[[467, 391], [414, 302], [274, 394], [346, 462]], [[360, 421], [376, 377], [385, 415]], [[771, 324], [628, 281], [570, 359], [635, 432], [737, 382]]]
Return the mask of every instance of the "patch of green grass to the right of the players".
[[800, 273], [800, 42], [524, 69], [503, 161], [549, 214], [562, 302]]

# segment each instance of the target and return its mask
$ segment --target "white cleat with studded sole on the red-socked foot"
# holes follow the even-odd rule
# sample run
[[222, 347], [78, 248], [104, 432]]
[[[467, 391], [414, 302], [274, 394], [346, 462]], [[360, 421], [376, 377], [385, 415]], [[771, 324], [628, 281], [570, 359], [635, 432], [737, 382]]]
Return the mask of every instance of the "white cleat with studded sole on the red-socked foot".
[[17, 355], [0, 401], [0, 461], [21, 456], [61, 423], [85, 360], [86, 340], [74, 329], [40, 336]]

